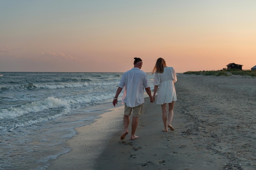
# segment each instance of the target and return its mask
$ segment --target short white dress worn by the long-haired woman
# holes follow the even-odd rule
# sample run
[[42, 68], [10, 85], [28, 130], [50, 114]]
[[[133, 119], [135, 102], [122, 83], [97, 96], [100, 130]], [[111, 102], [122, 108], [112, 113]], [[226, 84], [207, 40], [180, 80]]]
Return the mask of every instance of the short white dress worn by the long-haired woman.
[[177, 81], [176, 72], [172, 67], [164, 68], [163, 73], [155, 73], [154, 85], [158, 86], [156, 103], [163, 105], [177, 101], [174, 83]]

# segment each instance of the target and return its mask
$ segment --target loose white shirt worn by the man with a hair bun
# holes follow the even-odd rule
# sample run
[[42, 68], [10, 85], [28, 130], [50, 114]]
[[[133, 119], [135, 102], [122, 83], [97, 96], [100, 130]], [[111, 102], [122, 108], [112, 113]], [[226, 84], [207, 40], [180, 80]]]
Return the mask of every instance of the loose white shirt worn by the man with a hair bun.
[[119, 83], [124, 88], [124, 102], [128, 107], [136, 107], [144, 103], [144, 88], [148, 88], [147, 74], [139, 68], [132, 68], [125, 72]]

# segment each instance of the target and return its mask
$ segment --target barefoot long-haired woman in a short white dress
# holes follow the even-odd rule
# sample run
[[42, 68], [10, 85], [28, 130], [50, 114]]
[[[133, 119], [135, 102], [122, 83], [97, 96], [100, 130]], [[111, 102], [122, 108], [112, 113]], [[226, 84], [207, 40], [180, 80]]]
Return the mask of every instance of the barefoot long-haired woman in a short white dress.
[[[165, 132], [170, 128], [174, 130], [171, 122], [173, 120], [173, 107], [175, 101], [177, 101], [176, 91], [174, 83], [177, 81], [175, 70], [172, 67], [167, 67], [166, 62], [163, 58], [157, 59], [152, 74], [155, 73], [154, 77], [154, 94], [153, 100], [155, 102], [155, 94], [157, 92], [156, 103], [162, 107], [162, 119], [164, 123]], [[168, 123], [167, 123], [167, 106], [168, 103]]]

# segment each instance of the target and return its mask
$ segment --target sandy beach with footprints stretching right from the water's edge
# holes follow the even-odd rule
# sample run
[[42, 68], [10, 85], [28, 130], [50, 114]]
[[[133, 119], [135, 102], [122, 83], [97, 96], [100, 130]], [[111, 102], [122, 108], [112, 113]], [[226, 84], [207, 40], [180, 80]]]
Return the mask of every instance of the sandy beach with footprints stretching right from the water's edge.
[[130, 140], [129, 133], [120, 140], [124, 106], [110, 109], [77, 128], [78, 135], [66, 142], [72, 151], [47, 170], [255, 170], [256, 78], [177, 79], [174, 131], [162, 131], [160, 105], [145, 98], [138, 139]]

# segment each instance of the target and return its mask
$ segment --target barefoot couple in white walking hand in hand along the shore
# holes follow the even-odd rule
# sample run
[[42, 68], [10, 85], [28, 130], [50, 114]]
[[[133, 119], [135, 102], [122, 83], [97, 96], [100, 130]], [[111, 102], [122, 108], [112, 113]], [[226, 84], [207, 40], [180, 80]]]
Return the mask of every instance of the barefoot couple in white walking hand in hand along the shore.
[[[144, 88], [150, 97], [150, 102], [155, 102], [161, 105], [162, 119], [164, 123], [163, 131], [167, 132], [168, 128], [173, 131], [174, 128], [171, 125], [173, 119], [173, 107], [174, 102], [177, 100], [174, 83], [177, 81], [175, 70], [172, 67], [167, 67], [163, 58], [157, 59], [152, 74], [154, 77], [154, 94], [151, 95], [151, 90], [148, 84], [147, 74], [143, 72], [142, 60], [140, 58], [134, 58], [134, 68], [125, 72], [119, 83], [116, 95], [113, 100], [113, 105], [117, 104], [118, 95], [124, 88], [124, 133], [121, 135], [123, 140], [128, 134], [128, 126], [130, 123], [130, 115], [132, 113], [132, 133], [131, 139], [136, 139], [135, 135], [137, 129], [139, 117], [142, 114], [142, 108], [144, 104]], [[155, 94], [157, 97], [155, 100]], [[168, 119], [167, 119], [167, 106], [168, 103]]]

